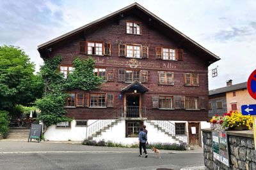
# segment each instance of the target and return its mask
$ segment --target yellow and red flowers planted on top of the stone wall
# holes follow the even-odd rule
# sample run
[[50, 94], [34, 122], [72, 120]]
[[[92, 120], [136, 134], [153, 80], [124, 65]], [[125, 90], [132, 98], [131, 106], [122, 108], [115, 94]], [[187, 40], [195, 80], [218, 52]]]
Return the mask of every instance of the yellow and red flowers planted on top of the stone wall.
[[252, 116], [244, 116], [238, 111], [230, 111], [222, 116], [215, 115], [210, 123], [213, 131], [250, 130], [252, 129], [253, 118]]

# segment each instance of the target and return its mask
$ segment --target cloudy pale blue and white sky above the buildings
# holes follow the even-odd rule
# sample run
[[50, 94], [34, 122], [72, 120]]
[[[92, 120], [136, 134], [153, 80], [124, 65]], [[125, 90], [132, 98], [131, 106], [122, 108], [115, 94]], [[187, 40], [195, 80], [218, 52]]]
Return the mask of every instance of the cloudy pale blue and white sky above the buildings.
[[[248, 80], [256, 69], [256, 1], [0, 0], [0, 45], [20, 46], [39, 70], [37, 46], [139, 3], [221, 60], [209, 66], [209, 89]], [[218, 66], [218, 76], [211, 69]]]

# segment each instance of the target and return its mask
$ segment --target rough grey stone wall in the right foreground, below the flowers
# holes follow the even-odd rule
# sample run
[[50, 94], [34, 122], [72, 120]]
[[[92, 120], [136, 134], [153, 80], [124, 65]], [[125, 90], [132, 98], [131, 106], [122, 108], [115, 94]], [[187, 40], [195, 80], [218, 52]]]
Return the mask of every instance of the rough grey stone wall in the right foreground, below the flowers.
[[256, 151], [252, 131], [228, 131], [230, 167], [213, 158], [211, 129], [203, 129], [205, 170], [255, 170]]

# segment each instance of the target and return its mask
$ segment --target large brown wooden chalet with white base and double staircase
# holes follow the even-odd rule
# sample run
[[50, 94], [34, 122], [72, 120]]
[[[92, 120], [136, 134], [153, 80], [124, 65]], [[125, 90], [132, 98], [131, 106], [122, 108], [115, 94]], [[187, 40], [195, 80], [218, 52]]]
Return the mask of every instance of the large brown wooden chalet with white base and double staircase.
[[220, 58], [134, 3], [38, 46], [44, 59], [62, 55], [72, 72], [79, 56], [95, 59], [100, 90], [70, 91], [67, 116], [49, 140], [93, 139], [131, 144], [147, 125], [150, 142], [200, 144], [208, 120], [208, 66]]

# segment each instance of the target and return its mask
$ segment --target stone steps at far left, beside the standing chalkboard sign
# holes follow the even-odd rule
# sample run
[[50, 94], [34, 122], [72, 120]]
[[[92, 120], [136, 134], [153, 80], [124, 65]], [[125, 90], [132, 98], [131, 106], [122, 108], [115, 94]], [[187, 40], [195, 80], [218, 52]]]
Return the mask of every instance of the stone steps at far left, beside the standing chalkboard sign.
[[12, 127], [4, 141], [28, 141], [30, 128]]

